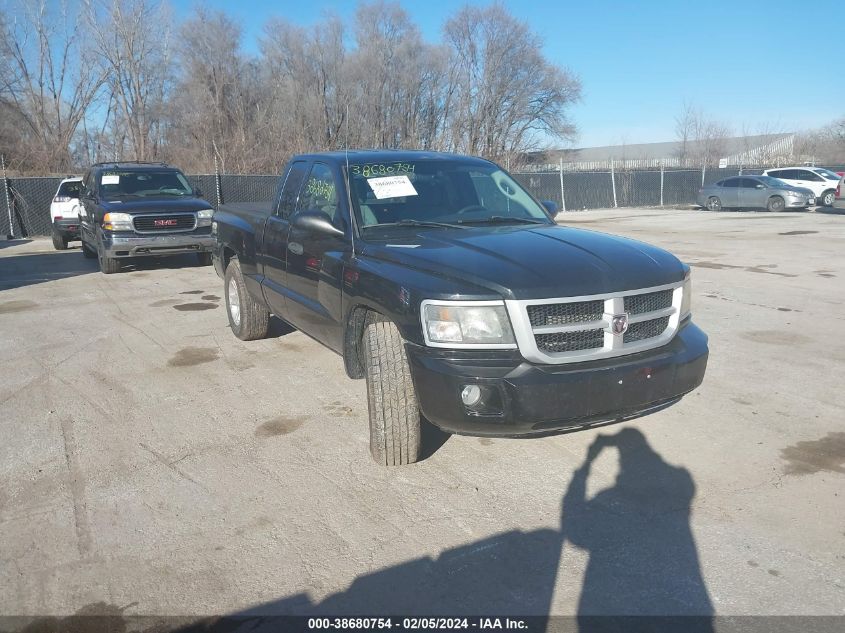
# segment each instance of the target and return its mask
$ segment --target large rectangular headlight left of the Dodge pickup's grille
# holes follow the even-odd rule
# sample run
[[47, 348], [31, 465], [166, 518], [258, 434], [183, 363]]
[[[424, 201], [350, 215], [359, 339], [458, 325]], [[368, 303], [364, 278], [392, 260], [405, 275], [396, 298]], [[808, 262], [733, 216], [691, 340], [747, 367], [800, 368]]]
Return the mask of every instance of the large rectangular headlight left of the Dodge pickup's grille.
[[432, 347], [516, 347], [501, 301], [424, 301], [422, 325]]

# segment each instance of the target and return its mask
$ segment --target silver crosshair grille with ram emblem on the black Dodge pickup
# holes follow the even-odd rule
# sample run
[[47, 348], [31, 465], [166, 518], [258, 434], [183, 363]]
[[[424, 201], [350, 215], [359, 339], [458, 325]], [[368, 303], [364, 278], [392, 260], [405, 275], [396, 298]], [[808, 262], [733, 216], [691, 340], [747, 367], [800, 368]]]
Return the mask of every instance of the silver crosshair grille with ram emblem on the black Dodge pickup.
[[[557, 365], [636, 354], [665, 345], [678, 331], [682, 300], [683, 281], [678, 281], [600, 295], [511, 299], [505, 306], [522, 356], [530, 362]], [[597, 301], [603, 306], [600, 315], [595, 311]], [[581, 320], [585, 314], [593, 320]], [[613, 317], [623, 314], [628, 317], [628, 328], [614, 334]]]

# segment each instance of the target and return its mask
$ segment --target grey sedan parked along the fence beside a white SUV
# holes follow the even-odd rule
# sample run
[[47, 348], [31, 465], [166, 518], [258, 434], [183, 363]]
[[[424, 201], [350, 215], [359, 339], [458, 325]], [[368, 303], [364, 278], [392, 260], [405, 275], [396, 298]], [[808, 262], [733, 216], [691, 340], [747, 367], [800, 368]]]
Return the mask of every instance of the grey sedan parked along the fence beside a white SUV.
[[815, 204], [809, 189], [793, 187], [771, 176], [734, 176], [698, 191], [697, 202], [710, 211], [722, 209], [805, 209]]

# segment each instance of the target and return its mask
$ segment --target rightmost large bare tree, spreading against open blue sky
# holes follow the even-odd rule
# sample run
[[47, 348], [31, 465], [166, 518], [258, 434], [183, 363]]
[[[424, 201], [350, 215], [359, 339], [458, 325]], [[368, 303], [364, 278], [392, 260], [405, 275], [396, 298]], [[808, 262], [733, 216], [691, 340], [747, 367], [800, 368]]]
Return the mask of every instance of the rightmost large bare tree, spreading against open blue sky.
[[451, 149], [500, 159], [570, 139], [581, 84], [543, 57], [542, 41], [500, 4], [465, 7], [444, 27], [451, 49]]

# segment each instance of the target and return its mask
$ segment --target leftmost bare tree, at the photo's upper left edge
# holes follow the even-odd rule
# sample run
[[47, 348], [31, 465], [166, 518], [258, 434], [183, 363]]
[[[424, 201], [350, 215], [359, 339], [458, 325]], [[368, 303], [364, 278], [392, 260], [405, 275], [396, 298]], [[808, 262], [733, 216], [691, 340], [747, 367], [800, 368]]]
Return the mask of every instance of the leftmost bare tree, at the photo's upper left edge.
[[67, 4], [43, 0], [21, 2], [0, 28], [0, 100], [23, 126], [16, 135], [21, 163], [68, 170], [71, 143], [104, 80], [86, 48], [89, 33]]

